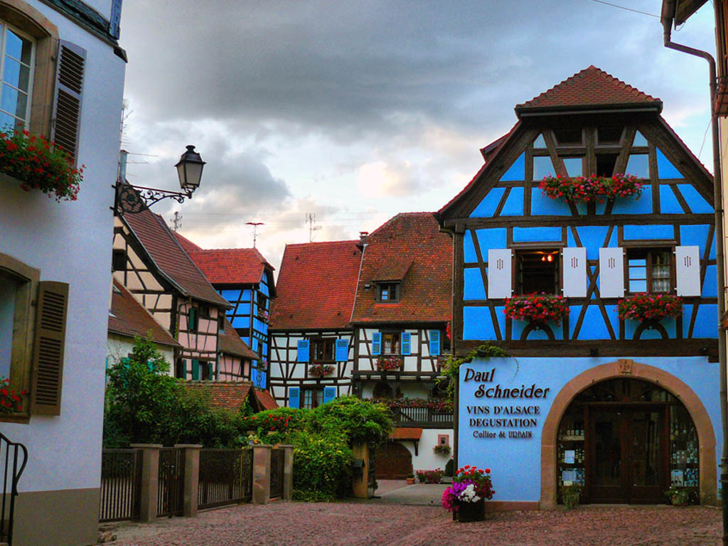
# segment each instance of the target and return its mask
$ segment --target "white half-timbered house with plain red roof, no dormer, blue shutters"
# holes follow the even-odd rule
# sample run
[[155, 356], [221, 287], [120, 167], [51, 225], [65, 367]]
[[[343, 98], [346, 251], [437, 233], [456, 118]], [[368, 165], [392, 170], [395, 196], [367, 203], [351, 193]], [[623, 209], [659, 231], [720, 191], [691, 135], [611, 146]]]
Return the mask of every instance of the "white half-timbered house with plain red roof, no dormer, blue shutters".
[[350, 320], [361, 256], [357, 241], [286, 245], [269, 356], [270, 390], [280, 405], [314, 408], [352, 394]]

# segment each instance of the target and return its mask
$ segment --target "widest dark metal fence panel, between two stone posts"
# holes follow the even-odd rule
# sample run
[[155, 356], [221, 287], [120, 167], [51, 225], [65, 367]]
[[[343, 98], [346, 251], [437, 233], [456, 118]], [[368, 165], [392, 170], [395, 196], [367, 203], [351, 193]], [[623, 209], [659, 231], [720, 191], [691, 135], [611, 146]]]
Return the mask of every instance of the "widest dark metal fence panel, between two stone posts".
[[197, 507], [213, 508], [253, 498], [252, 449], [201, 449]]

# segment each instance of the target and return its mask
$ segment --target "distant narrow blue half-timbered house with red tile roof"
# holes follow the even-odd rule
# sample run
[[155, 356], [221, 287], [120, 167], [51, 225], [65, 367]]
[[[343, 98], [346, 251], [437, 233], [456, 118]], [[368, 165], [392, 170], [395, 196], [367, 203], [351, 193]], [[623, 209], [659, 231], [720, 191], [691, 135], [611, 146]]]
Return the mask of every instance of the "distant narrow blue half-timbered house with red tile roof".
[[273, 266], [256, 248], [202, 249], [189, 240], [180, 241], [218, 294], [232, 306], [227, 318], [256, 354], [247, 379], [265, 389], [269, 314], [275, 298]]

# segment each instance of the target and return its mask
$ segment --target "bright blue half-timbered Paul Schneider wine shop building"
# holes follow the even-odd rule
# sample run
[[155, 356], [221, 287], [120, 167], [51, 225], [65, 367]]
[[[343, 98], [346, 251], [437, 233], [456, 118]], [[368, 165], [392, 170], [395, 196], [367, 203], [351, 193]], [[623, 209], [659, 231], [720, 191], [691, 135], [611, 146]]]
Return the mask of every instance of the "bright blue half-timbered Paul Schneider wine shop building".
[[[456, 418], [460, 464], [513, 477], [505, 505], [548, 507], [571, 485], [582, 502], [665, 502], [670, 484], [715, 502], [711, 175], [661, 110], [590, 66], [516, 106], [513, 130], [438, 213], [454, 237], [454, 350], [489, 341], [513, 356], [462, 366]], [[641, 178], [641, 194], [539, 189], [549, 175], [620, 173]], [[563, 296], [568, 314], [505, 313], [531, 293]], [[639, 293], [678, 296], [681, 312], [620, 317]]]

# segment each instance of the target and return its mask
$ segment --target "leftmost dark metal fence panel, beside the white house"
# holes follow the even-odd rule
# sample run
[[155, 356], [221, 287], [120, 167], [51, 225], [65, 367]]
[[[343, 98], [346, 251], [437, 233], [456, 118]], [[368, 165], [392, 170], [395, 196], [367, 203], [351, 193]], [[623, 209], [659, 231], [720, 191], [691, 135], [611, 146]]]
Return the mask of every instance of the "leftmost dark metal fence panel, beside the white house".
[[99, 521], [139, 518], [141, 451], [104, 449], [101, 454]]

